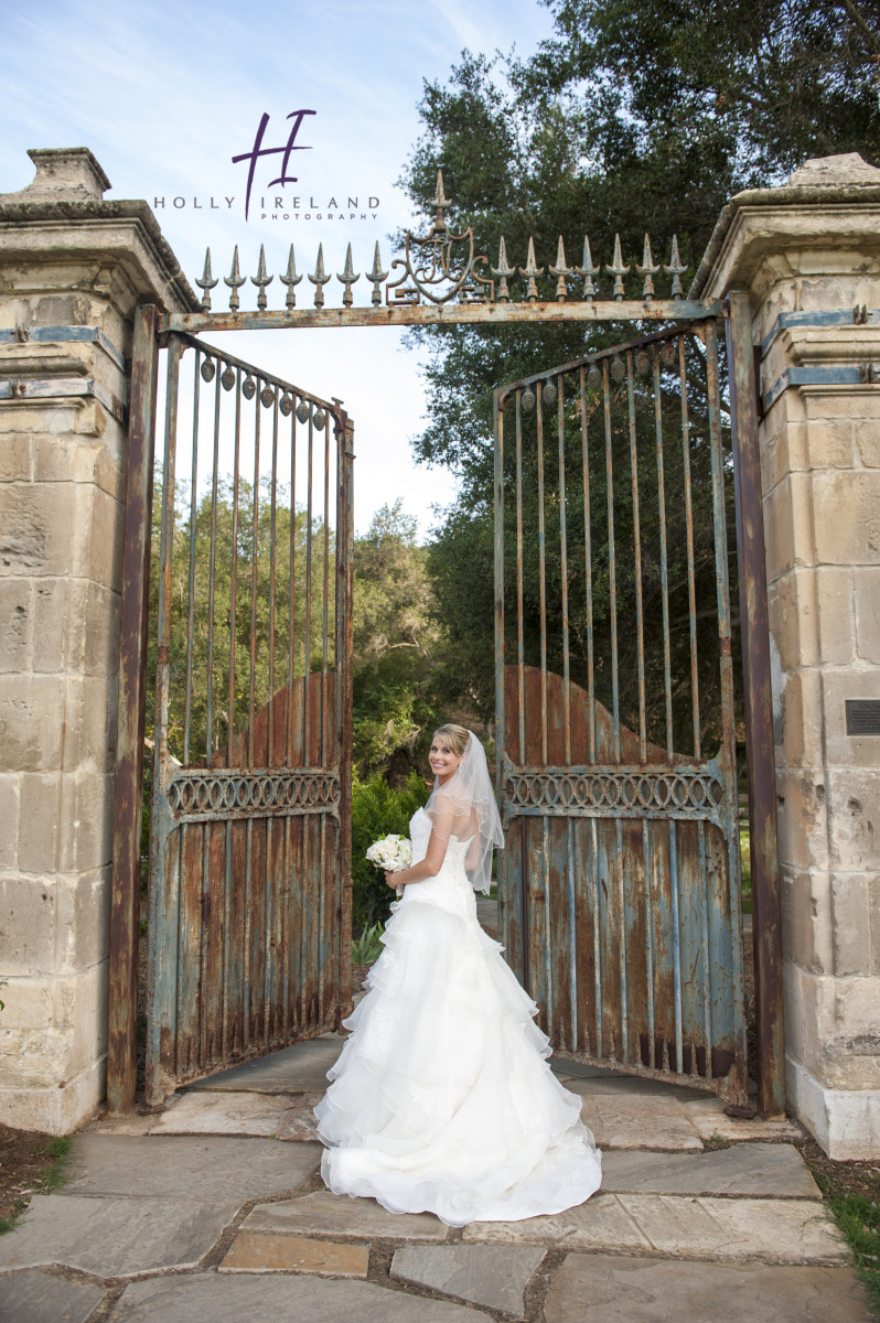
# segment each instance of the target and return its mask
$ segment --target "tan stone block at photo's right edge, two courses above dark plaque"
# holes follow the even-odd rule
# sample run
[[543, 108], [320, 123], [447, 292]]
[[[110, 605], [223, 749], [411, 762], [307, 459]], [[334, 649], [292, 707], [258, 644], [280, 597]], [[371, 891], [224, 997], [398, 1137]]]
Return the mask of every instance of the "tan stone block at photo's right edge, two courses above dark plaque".
[[880, 564], [880, 472], [814, 474], [813, 513], [820, 564]]

